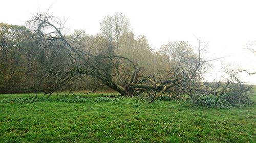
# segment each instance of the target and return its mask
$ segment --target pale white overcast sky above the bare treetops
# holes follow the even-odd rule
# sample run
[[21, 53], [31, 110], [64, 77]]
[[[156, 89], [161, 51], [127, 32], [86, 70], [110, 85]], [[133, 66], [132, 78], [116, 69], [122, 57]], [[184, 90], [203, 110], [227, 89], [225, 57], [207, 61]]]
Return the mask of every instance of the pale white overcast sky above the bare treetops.
[[[256, 1], [78, 1], [78, 0], [2, 0], [0, 22], [23, 25], [33, 14], [46, 12], [67, 19], [70, 32], [85, 30], [100, 33], [100, 21], [106, 15], [123, 13], [130, 19], [131, 30], [145, 35], [154, 49], [168, 41], [183, 40], [197, 46], [197, 38], [209, 42], [208, 60], [227, 56], [214, 64], [215, 75], [224, 65], [256, 72], [256, 56], [246, 50], [256, 41]], [[241, 75], [248, 83], [256, 84], [256, 75]]]

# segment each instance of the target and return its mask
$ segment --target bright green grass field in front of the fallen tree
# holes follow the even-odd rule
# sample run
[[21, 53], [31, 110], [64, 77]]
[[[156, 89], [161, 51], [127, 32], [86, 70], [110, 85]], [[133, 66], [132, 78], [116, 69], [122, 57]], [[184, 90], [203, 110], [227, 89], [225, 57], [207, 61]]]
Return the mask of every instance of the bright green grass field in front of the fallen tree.
[[256, 142], [255, 105], [217, 109], [101, 97], [110, 95], [0, 95], [0, 142]]

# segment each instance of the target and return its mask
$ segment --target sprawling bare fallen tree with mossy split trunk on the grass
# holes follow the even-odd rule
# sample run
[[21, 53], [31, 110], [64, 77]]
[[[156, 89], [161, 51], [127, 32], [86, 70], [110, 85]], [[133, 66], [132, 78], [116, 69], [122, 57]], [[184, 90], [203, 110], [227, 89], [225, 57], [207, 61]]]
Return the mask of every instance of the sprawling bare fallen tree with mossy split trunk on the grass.
[[[109, 40], [112, 39], [110, 37], [103, 38], [101, 41], [103, 47], [94, 50], [92, 46], [78, 47], [77, 44], [72, 43], [68, 36], [62, 34], [64, 27], [61, 20], [47, 13], [35, 15], [28, 21], [28, 25], [35, 37], [40, 39], [37, 41], [38, 47], [47, 49], [45, 61], [34, 75], [37, 82], [33, 83], [31, 89], [49, 94], [48, 97], [75, 78], [86, 81], [87, 78], [83, 75], [99, 81], [96, 88], [107, 85], [119, 92], [121, 96], [147, 93], [153, 95], [151, 102], [162, 94], [172, 95], [173, 93], [187, 94], [193, 100], [209, 94], [220, 96], [227, 92], [228, 85], [231, 83], [226, 82], [222, 85], [204, 81], [203, 74], [209, 67], [207, 63], [212, 60], [202, 59], [201, 54], [207, 44], [202, 46], [200, 40], [198, 40], [197, 54], [187, 42], [169, 42], [162, 47], [161, 53], [165, 56], [165, 63], [167, 63], [163, 66], [164, 74], [143, 76], [143, 67], [125, 56], [116, 54], [115, 48], [120, 47], [118, 41], [120, 35], [116, 36], [118, 38], [115, 40]], [[126, 69], [121, 69], [120, 65], [124, 65]], [[126, 78], [123, 79], [123, 84], [118, 84], [121, 82], [115, 80], [120, 70], [125, 70], [123, 73]]]

